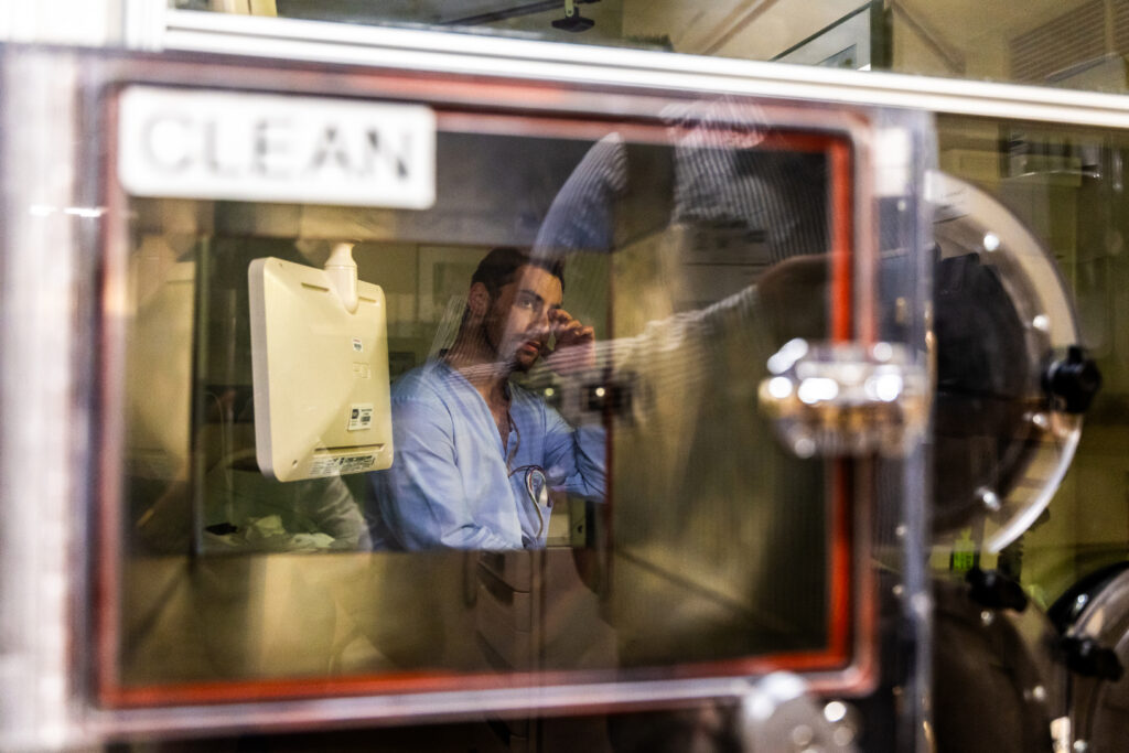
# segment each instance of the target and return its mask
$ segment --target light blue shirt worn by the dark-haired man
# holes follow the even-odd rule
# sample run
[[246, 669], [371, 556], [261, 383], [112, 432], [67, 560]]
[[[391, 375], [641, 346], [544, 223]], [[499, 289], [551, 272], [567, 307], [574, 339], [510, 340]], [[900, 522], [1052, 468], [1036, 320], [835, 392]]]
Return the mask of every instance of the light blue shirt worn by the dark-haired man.
[[603, 428], [574, 430], [533, 393], [509, 389], [504, 449], [485, 401], [446, 362], [430, 361], [393, 385], [394, 459], [369, 474], [374, 549], [544, 546], [550, 509], [539, 516], [524, 470], [510, 475], [523, 466], [543, 469], [553, 489], [604, 499]]

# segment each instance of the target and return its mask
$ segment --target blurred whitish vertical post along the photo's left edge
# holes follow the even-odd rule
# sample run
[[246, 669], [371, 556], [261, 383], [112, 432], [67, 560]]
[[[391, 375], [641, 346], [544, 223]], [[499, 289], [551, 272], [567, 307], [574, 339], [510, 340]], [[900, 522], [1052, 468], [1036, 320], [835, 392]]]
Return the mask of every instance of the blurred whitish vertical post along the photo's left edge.
[[86, 603], [77, 510], [93, 492], [90, 395], [77, 385], [89, 376], [82, 364], [94, 333], [75, 291], [91, 273], [78, 240], [97, 219], [77, 213], [78, 166], [43, 169], [36, 156], [72, 135], [67, 91], [77, 78], [67, 58], [6, 60], [2, 69], [0, 747], [8, 750], [77, 737], [80, 649], [71, 636]]

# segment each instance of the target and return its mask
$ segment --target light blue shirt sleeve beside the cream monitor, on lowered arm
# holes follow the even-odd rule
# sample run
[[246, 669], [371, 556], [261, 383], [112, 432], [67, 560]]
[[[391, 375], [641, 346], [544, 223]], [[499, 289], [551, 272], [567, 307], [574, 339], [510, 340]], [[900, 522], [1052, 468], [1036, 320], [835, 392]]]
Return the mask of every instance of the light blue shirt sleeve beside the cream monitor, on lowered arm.
[[471, 515], [450, 413], [425, 400], [395, 400], [392, 426], [392, 467], [369, 474], [374, 546], [511, 549]]

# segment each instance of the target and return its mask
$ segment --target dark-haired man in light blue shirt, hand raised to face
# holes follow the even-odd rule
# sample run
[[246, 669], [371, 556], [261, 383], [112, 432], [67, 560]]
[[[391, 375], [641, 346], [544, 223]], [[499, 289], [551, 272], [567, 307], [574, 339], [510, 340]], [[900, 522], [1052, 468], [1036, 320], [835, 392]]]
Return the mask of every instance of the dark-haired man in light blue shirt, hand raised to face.
[[562, 295], [559, 262], [495, 248], [479, 264], [454, 344], [393, 387], [395, 458], [369, 476], [375, 548], [542, 546], [548, 488], [603, 498], [603, 429], [574, 430], [509, 380], [543, 354], [562, 371], [594, 362]]

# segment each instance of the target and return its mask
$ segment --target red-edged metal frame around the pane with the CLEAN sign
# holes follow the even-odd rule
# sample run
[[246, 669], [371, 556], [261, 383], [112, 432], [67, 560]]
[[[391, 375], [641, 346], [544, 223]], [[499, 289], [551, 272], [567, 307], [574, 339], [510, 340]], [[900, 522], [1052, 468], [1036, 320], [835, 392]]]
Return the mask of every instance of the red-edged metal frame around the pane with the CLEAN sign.
[[[205, 58], [194, 58], [195, 60], [185, 55], [173, 55], [172, 59], [166, 60], [154, 59], [150, 61], [150, 64], [146, 65], [143, 73], [140, 72], [140, 68], [129, 68], [130, 61], [128, 59], [121, 61], [114, 60], [107, 64], [105, 70], [98, 72], [90, 72], [88, 70], [87, 76], [93, 76], [93, 80], [100, 82], [88, 94], [94, 95], [94, 90], [96, 89], [102, 91], [103, 95], [96, 96], [97, 102], [89, 102], [87, 106], [99, 108], [102, 106], [99, 102], [102, 102], [103, 96], [112, 100], [115, 98], [113, 91], [129, 84], [172, 85], [173, 82], [181, 82], [183, 85], [183, 81], [189, 79], [189, 73], [192, 72], [198, 75], [204, 73], [203, 79], [199, 78], [199, 76], [191, 79], [194, 81], [194, 85], [212, 88], [235, 87], [253, 89], [256, 87], [277, 87], [282, 78], [281, 73], [271, 70], [265, 64], [234, 69], [226, 64], [230, 61], [218, 59], [209, 61]], [[246, 61], [244, 60], [243, 62]], [[308, 65], [295, 65], [294, 68], [307, 72], [310, 70]], [[390, 65], [390, 68], [392, 67]], [[314, 94], [315, 91], [312, 90], [312, 87], [316, 89], [317, 81], [327, 84], [333, 80], [338, 80], [339, 82], [345, 80], [351, 86], [357, 87], [356, 89], [351, 89], [351, 94], [355, 96], [365, 94], [367, 96], [379, 95], [394, 98], [446, 102], [447, 106], [454, 111], [453, 116], [456, 117], [458, 116], [457, 111], [461, 104], [490, 100], [492, 103], [491, 111], [497, 111], [501, 114], [508, 113], [508, 116], [511, 119], [514, 115], [518, 115], [518, 120], [520, 120], [520, 114], [523, 113], [534, 120], [546, 116], [552, 117], [554, 115], [558, 117], [569, 115], [590, 116], [595, 113], [603, 113], [605, 115], [625, 117], [629, 122], [638, 120], [651, 123], [658, 122], [662, 106], [669, 102], [671, 96], [668, 89], [648, 90], [648, 88], [639, 87], [616, 87], [616, 90], [610, 90], [607, 87], [603, 87], [603, 91], [594, 97], [593, 87], [590, 86], [586, 86], [583, 89], [575, 89], [572, 87], [562, 87], [555, 81], [541, 81], [539, 86], [515, 80], [514, 77], [508, 77], [507, 81], [473, 80], [465, 75], [456, 73], [450, 73], [449, 79], [444, 77], [436, 80], [432, 77], [412, 76], [402, 71], [402, 69], [382, 75], [379, 85], [377, 85], [365, 73], [365, 71], [342, 71], [334, 67], [332, 71], [318, 71], [313, 75], [313, 78], [306, 77], [301, 84], [295, 84], [292, 87], [305, 91], [305, 94]], [[420, 84], [423, 78], [431, 80], [421, 87]], [[287, 88], [289, 90], [289, 87]], [[534, 102], [531, 103], [528, 95], [535, 94], [539, 89], [551, 90], [554, 96], [550, 99], [534, 97]], [[833, 135], [835, 140], [844, 143], [849, 142], [856, 152], [854, 159], [857, 160], [857, 165], [851, 166], [847, 174], [854, 174], [856, 181], [867, 183], [869, 180], [868, 176], [873, 176], [878, 172], [882, 159], [867, 145], [872, 141], [869, 137], [876, 134], [882, 129], [883, 124], [881, 122], [865, 117], [863, 112], [858, 110], [847, 110], [837, 115], [833, 112], [833, 107], [829, 108], [823, 105], [814, 108], [797, 108], [791, 107], [790, 103], [778, 102], [772, 106], [780, 110], [781, 113], [788, 113], [790, 119], [788, 123], [791, 126], [826, 132]], [[475, 115], [475, 117], [483, 116], [487, 120], [490, 117], [489, 114], [483, 115], [480, 113]], [[106, 122], [113, 122], [113, 117], [110, 117]], [[112, 138], [111, 133], [112, 129], [106, 131], [107, 138]], [[99, 154], [102, 154], [100, 159], [107, 160], [104, 169], [111, 170], [108, 165], [113, 163], [113, 149]], [[847, 166], [844, 166], [846, 168]], [[881, 187], [877, 185], [867, 185], [867, 195], [877, 195]], [[107, 217], [124, 216], [124, 207], [122, 198], [117, 195], [119, 192], [117, 187], [111, 185], [105, 195], [107, 199]], [[864, 284], [864, 281], [870, 280], [873, 282], [873, 279], [865, 272], [864, 268], [869, 268], [875, 263], [876, 252], [873, 237], [874, 228], [872, 227], [874, 218], [870, 217], [869, 211], [865, 209], [861, 213], [861, 220], [857, 221], [857, 224], [848, 222], [849, 235], [840, 239], [842, 243], [856, 246], [855, 254], [857, 254], [854, 259], [848, 260], [849, 262], [855, 262], [852, 264], [855, 269], [848, 270], [844, 268], [841, 272], [843, 275], [857, 277], [857, 284], [863, 286], [865, 289], [868, 289], [866, 286], [869, 282]], [[105, 247], [113, 249], [122, 246], [122, 228], [119, 222], [107, 222], [104, 233], [107, 234], [103, 238]], [[117, 260], [116, 262], [107, 260], [111, 266], [121, 263], [120, 254], [111, 251], [107, 253], [107, 256]], [[110, 271], [106, 272], [106, 275], [107, 280], [112, 280], [113, 275]], [[857, 292], [860, 297], [866, 298], [865, 289], [852, 291], [848, 287], [843, 295], [847, 296], [848, 294], [854, 295]], [[115, 306], [120, 306], [120, 304], [115, 303], [111, 297], [104, 300], [103, 306], [108, 306], [110, 309], [113, 309]], [[844, 316], [849, 316], [849, 314], [844, 314]], [[839, 336], [841, 338], [850, 336], [856, 326], [859, 327], [861, 336], [873, 336], [873, 332], [864, 323], [852, 325], [849, 319], [843, 319], [840, 324], [842, 325], [839, 332]], [[104, 513], [107, 506], [112, 506], [113, 500], [116, 498], [114, 473], [119, 465], [116, 463], [116, 455], [114, 454], [115, 450], [112, 448], [115, 446], [114, 438], [120, 435], [120, 427], [115, 423], [117, 419], [114, 417], [122, 414], [121, 406], [115, 397], [117, 391], [115, 385], [121, 383], [121, 374], [115, 369], [120, 369], [121, 359], [113, 353], [120, 353], [122, 348], [122, 333], [115, 327], [107, 327], [102, 333], [102, 351], [106, 366], [99, 369], [102, 378], [98, 382], [102, 385], [102, 389], [98, 402], [102, 408], [100, 413], [103, 418], [99, 424], [100, 436], [96, 444], [99, 447], [110, 447], [111, 449], [108, 453], [105, 449], [98, 453], [100, 459], [96, 461], [100, 467], [98, 476], [102, 482], [93, 492], [95, 494], [94, 507], [103, 510], [103, 515], [99, 516], [100, 519], [91, 520], [91, 526], [97, 531], [97, 540], [102, 542], [99, 550], [108, 553], [111, 557], [116, 553], [120, 545], [114, 533], [120, 522], [112, 516], [105, 517]], [[834, 472], [839, 479], [839, 489], [843, 494], [849, 497], [855, 492], [859, 494], [865, 493], [860, 489], [855, 489], [856, 484], [863, 482], [858, 479], [852, 481], [843, 473], [841, 465], [837, 466]], [[860, 478], [863, 475], [868, 474], [860, 474]], [[851, 487], [850, 491], [847, 490], [848, 485]], [[839, 540], [832, 541], [829, 544], [832, 548], [832, 550], [829, 550], [829, 555], [837, 558], [837, 567], [851, 571], [851, 576], [848, 578], [850, 583], [844, 581], [843, 587], [837, 590], [837, 594], [839, 598], [846, 598], [846, 592], [850, 589], [859, 596], [859, 604], [856, 604], [854, 607], [855, 614], [852, 615], [852, 625], [850, 629], [837, 630], [832, 627], [832, 634], [830, 636], [832, 646], [829, 647], [829, 657], [832, 659], [841, 657], [847, 659], [847, 663], [840, 666], [828, 666], [826, 658], [819, 659], [812, 664], [812, 657], [796, 657], [795, 666], [790, 666], [789, 668], [803, 672], [807, 686], [815, 692], [865, 693], [870, 690], [875, 682], [876, 647], [873, 640], [876, 629], [874, 614], [876, 606], [870, 602], [868, 596], [873, 590], [873, 584], [870, 583], [870, 573], [865, 563], [867, 544], [863, 541], [856, 541], [854, 546], [846, 546], [844, 542], [848, 536], [865, 536], [864, 531], [866, 528], [866, 520], [868, 519], [866, 513], [868, 511], [865, 513], [859, 506], [850, 504], [846, 497], [839, 499], [833, 505], [833, 509], [838, 516], [834, 520], [834, 531]], [[96, 555], [95, 561], [97, 559], [99, 558]], [[95, 619], [98, 622], [115, 618], [112, 614], [113, 610], [107, 610], [107, 604], [112, 605], [114, 603], [114, 584], [117, 573], [104, 566], [105, 563], [103, 563], [103, 567], [95, 568], [98, 572], [95, 592], [98, 594], [99, 603], [94, 612], [96, 615]], [[843, 606], [843, 604], [839, 604], [839, 611], [842, 611]], [[97, 650], [103, 656], [113, 655], [112, 648], [107, 648], [116, 639], [113, 627], [103, 624], [97, 633]], [[94, 664], [102, 672], [108, 668], [108, 664], [104, 658], [94, 659]], [[87, 728], [94, 732], [96, 736], [113, 738], [131, 734], [167, 733], [170, 730], [192, 733], [195, 728], [207, 728], [210, 730], [239, 729], [248, 725], [261, 725], [272, 729], [287, 729], [309, 727], [313, 724], [331, 725], [343, 721], [357, 723], [358, 720], [378, 720], [382, 723], [402, 723], [409, 720], [435, 721], [461, 718], [471, 711], [481, 712], [488, 710], [499, 713], [514, 713], [522, 709], [530, 712], [552, 712], [554, 710], [557, 712], [564, 710], [599, 711], [613, 708], [622, 709], [624, 707], [648, 707], [718, 698], [739, 698], [749, 692], [751, 680], [761, 676], [762, 672], [768, 672], [772, 668], [771, 666], [761, 666], [758, 660], [753, 660], [745, 667], [744, 672], [730, 671], [717, 676], [710, 676], [707, 673], [691, 678], [671, 677], [665, 680], [637, 680], [613, 683], [580, 681], [578, 683], [558, 685], [537, 683], [532, 686], [523, 685], [520, 688], [505, 688], [499, 690], [457, 689], [412, 692], [409, 689], [383, 695], [368, 694], [371, 688], [366, 685], [364, 681], [358, 686], [353, 686], [356, 683], [345, 681], [336, 683], [336, 692], [315, 694], [315, 697], [309, 697], [308, 693], [300, 692], [299, 688], [299, 698], [282, 695], [256, 699], [254, 693], [247, 693], [246, 698], [208, 699], [209, 706], [207, 706], [208, 712], [205, 715], [200, 713], [201, 707], [193, 702], [191, 692], [172, 699], [172, 702], [168, 699], [156, 697], [156, 700], [150, 699], [146, 702], [145, 699], [148, 698], [146, 692], [148, 691], [142, 691], [139, 697], [141, 698], [140, 703], [126, 701], [122, 704], [122, 708], [113, 708], [117, 703], [112, 702], [110, 708], [87, 709], [86, 723], [88, 725]], [[98, 673], [96, 672], [95, 674]], [[96, 682], [104, 683], [104, 678], [96, 680]], [[218, 700], [226, 702], [216, 702]], [[145, 708], [146, 706], [150, 708]]]

